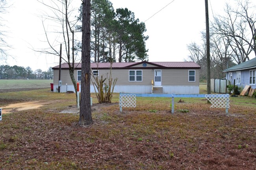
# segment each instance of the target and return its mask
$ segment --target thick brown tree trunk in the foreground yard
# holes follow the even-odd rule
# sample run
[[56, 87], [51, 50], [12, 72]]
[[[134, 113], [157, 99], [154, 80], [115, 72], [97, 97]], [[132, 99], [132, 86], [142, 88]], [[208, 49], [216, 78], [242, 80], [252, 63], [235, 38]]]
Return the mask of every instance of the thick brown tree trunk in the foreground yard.
[[90, 28], [91, 28], [91, 3], [90, 0], [83, 0], [83, 20], [82, 20], [82, 81], [81, 81], [81, 104], [80, 126], [89, 126], [93, 123], [91, 117], [91, 93], [90, 93]]

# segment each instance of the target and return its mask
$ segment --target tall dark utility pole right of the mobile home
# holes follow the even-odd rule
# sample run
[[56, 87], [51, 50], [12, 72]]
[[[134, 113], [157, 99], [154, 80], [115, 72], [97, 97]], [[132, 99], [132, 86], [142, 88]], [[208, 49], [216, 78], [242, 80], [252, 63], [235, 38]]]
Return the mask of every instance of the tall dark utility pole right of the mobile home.
[[205, 0], [205, 23], [206, 23], [206, 74], [207, 74], [207, 94], [211, 94], [211, 64], [210, 64], [210, 31], [208, 0]]

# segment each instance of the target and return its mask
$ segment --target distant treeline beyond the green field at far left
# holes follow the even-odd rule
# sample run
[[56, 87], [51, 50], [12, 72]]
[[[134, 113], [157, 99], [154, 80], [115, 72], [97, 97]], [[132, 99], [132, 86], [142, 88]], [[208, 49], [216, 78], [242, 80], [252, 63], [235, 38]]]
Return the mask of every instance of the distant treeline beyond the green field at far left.
[[52, 79], [52, 68], [48, 68], [47, 71], [36, 69], [33, 71], [30, 67], [20, 66], [0, 66], [0, 79]]

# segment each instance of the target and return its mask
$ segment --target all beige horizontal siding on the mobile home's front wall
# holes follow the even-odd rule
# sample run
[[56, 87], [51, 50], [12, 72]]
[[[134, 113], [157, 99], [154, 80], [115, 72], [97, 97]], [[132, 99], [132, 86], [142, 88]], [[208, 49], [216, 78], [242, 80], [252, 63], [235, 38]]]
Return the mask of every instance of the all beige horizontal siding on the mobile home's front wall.
[[[95, 69], [93, 69], [95, 70]], [[142, 82], [129, 82], [129, 70], [142, 70]], [[188, 81], [189, 70], [195, 70], [195, 82]], [[74, 77], [77, 80], [77, 71], [74, 71]], [[106, 77], [109, 73], [109, 69], [99, 69], [99, 78], [101, 75]], [[162, 86], [199, 86], [199, 71], [198, 69], [161, 69], [162, 73]], [[109, 74], [108, 74], [109, 75]], [[118, 78], [116, 85], [128, 85], [128, 86], [143, 86], [151, 85], [151, 80], [154, 80], [154, 70], [152, 69], [112, 69], [112, 78]], [[54, 84], [58, 84], [59, 80], [59, 70], [54, 69]], [[61, 70], [61, 80], [62, 84], [68, 85], [72, 84], [70, 79], [69, 70]], [[91, 76], [91, 80], [93, 77]], [[94, 80], [93, 80], [94, 81]], [[81, 83], [80, 81], [78, 81]], [[91, 83], [92, 84], [92, 83]]]

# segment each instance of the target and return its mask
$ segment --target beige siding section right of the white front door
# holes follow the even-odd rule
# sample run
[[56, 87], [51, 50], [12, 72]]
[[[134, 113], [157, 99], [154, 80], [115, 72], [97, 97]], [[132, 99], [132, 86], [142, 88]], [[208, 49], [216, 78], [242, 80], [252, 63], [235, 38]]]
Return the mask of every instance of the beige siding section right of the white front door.
[[[189, 70], [195, 70], [195, 82], [188, 81]], [[198, 69], [162, 69], [162, 86], [199, 86]]]

